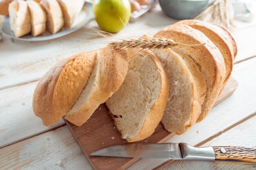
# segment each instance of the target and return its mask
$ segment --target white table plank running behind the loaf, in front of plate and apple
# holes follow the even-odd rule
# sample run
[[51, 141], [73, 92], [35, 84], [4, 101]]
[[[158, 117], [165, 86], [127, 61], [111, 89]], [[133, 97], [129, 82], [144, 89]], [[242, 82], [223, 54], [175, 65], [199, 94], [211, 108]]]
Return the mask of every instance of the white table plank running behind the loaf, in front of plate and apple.
[[[148, 20], [150, 18], [150, 20]], [[152, 22], [154, 21], [154, 22]], [[153, 35], [163, 27], [177, 22], [165, 15], [159, 5], [149, 13], [139, 18], [134, 23], [130, 23], [130, 28], [121, 30], [117, 35], [121, 36], [141, 36], [144, 34]], [[238, 43], [238, 56], [236, 61], [245, 60], [252, 55], [256, 55], [254, 49], [254, 35], [256, 27], [253, 23], [238, 22], [237, 31], [233, 32], [234, 38]], [[88, 26], [99, 29], [95, 21], [90, 22]], [[150, 30], [148, 29], [150, 28]], [[243, 28], [243, 29], [242, 29]], [[153, 32], [152, 32], [153, 31]], [[89, 35], [84, 32], [93, 33], [87, 28], [66, 35], [62, 38], [44, 41], [44, 42], [24, 42], [13, 40], [4, 36], [3, 42], [0, 42], [0, 90], [34, 82], [40, 79], [46, 71], [49, 70], [56, 62], [66, 58], [74, 53], [99, 49], [106, 44], [90, 42], [87, 44], [83, 40], [93, 40], [106, 42], [106, 38], [97, 35]], [[117, 36], [115, 36], [117, 38]], [[249, 40], [248, 40], [249, 39]], [[10, 78], [12, 77], [12, 78]]]

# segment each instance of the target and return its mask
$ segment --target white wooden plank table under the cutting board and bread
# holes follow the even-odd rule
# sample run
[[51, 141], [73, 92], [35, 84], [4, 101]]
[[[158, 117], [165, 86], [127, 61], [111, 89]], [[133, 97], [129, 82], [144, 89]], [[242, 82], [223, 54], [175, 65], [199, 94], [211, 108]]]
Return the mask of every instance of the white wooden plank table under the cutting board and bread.
[[[135, 32], [153, 35], [174, 22], [176, 20], [168, 18], [157, 6], [130, 24], [133, 32], [127, 28], [118, 35], [131, 36]], [[236, 24], [237, 28], [231, 32], [238, 45], [232, 76], [238, 81], [238, 88], [214, 107], [204, 121], [167, 142], [256, 147], [256, 20]], [[97, 23], [92, 21], [89, 26], [97, 28]], [[34, 88], [50, 67], [74, 53], [105, 46], [75, 39], [106, 41], [84, 32], [92, 31], [82, 28], [63, 38], [45, 42], [22, 42], [4, 36], [0, 42], [0, 170], [92, 169], [62, 119], [52, 126], [43, 126], [32, 110]], [[153, 168], [255, 170], [256, 166], [141, 159], [128, 169]]]

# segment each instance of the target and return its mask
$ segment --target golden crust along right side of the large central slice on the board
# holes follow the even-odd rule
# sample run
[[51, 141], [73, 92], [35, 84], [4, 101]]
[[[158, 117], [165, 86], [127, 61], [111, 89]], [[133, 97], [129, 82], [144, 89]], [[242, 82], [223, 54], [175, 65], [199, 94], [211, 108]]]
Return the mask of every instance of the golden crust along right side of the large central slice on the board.
[[150, 52], [148, 57], [150, 57], [150, 59], [154, 62], [157, 70], [161, 75], [160, 76], [161, 77], [160, 93], [158, 95], [157, 101], [155, 102], [150, 112], [148, 113], [144, 121], [144, 124], [141, 128], [141, 131], [133, 139], [127, 139], [128, 142], [140, 141], [140, 140], [146, 139], [147, 137], [153, 134], [153, 132], [155, 131], [155, 128], [157, 127], [157, 125], [159, 124], [159, 122], [163, 117], [165, 105], [168, 99], [169, 80], [164, 70], [164, 67], [162, 66], [161, 62], [153, 53]]

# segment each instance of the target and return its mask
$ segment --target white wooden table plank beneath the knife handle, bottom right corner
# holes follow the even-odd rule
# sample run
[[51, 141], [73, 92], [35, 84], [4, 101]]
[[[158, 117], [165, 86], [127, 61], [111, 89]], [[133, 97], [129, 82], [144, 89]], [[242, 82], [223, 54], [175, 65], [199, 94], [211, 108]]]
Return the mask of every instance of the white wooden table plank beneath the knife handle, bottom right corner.
[[[256, 116], [235, 126], [231, 130], [222, 133], [220, 136], [203, 144], [202, 146], [244, 146], [256, 148]], [[166, 166], [162, 166], [161, 170], [255, 170], [256, 165], [252, 164], [234, 164], [234, 163], [213, 163], [199, 161], [173, 161]]]

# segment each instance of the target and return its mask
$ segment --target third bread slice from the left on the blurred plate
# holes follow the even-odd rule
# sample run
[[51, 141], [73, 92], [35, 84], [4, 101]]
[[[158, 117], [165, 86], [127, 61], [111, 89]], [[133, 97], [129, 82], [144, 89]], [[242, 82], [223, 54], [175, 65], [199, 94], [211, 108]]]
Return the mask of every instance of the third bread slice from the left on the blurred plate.
[[57, 33], [64, 25], [61, 7], [57, 0], [41, 0], [40, 4], [46, 12], [46, 29], [49, 33]]

